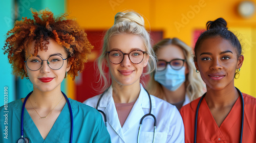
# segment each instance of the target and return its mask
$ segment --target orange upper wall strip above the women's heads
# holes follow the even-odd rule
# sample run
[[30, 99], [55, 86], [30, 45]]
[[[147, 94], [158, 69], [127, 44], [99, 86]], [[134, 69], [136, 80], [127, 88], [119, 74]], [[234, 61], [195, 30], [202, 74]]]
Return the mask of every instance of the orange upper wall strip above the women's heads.
[[[256, 25], [256, 15], [248, 19], [239, 16], [236, 11], [239, 2], [241, 0], [67, 0], [67, 11], [86, 29], [108, 29], [113, 25], [117, 12], [133, 9], [149, 21], [150, 24], [145, 20], [147, 28], [163, 30], [164, 37], [175, 36], [191, 45], [192, 32], [195, 29], [205, 29], [208, 20], [223, 17], [230, 27]], [[200, 9], [193, 11], [191, 7]], [[183, 15], [189, 16], [188, 21], [184, 20]], [[184, 27], [178, 29], [175, 23], [180, 23]]]

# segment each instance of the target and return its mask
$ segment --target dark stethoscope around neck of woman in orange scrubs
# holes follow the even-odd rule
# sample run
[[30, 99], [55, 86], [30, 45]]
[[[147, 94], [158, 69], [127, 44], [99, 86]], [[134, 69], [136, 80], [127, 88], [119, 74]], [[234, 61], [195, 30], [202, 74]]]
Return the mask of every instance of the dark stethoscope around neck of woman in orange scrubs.
[[[241, 93], [241, 91], [237, 87], [236, 87], [236, 89], [238, 90], [238, 92], [241, 96], [241, 101], [242, 101], [242, 116], [241, 116], [241, 130], [240, 130], [240, 143], [242, 143], [243, 127], [244, 127], [244, 98], [243, 98], [243, 94]], [[203, 96], [201, 97], [201, 99], [197, 105], [196, 120], [195, 120], [195, 134], [194, 134], [194, 142], [195, 143], [197, 142], [197, 117], [198, 117], [199, 106], [201, 104], [201, 101], [205, 97], [205, 95], [206, 95], [206, 93], [203, 94]]]

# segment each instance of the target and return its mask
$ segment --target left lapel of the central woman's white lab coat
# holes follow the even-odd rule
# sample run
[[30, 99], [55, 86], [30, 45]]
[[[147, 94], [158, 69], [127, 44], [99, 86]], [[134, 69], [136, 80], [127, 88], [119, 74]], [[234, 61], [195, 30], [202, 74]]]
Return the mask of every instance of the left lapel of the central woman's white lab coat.
[[113, 92], [113, 88], [112, 86], [110, 86], [109, 90], [102, 97], [99, 103], [99, 107], [105, 108], [104, 113], [106, 114], [106, 120], [111, 126], [107, 128], [113, 128], [115, 132], [120, 136], [120, 138], [124, 140], [122, 127], [119, 122], [116, 106], [114, 103], [114, 99], [112, 97], [112, 92]]

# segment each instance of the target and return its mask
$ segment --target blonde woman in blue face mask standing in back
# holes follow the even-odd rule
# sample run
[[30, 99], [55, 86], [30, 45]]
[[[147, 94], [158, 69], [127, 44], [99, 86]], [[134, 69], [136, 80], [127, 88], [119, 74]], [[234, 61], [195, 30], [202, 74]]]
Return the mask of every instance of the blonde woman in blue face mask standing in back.
[[204, 85], [196, 73], [191, 48], [178, 38], [163, 39], [153, 46], [158, 62], [148, 91], [178, 109], [197, 99]]

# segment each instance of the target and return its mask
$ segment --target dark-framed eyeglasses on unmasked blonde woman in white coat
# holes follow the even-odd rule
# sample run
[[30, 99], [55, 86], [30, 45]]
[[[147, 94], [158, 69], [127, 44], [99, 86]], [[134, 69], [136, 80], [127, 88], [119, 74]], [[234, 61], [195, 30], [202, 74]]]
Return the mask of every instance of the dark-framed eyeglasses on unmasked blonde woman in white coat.
[[134, 51], [131, 51], [130, 53], [123, 53], [122, 51], [119, 51], [119, 50], [113, 50], [113, 51], [106, 52], [105, 54], [109, 55], [109, 60], [113, 64], [121, 63], [123, 61], [124, 55], [128, 55], [132, 63], [139, 64], [142, 62], [144, 58], [144, 54], [146, 54], [146, 52], [141, 50], [134, 50]]

